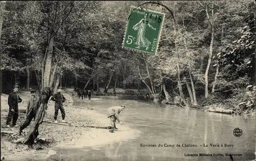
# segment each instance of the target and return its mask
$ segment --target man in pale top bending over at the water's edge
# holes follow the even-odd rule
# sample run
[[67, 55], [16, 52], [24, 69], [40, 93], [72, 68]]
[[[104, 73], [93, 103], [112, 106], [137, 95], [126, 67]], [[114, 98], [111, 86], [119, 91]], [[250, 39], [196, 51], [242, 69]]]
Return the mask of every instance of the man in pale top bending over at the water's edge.
[[111, 127], [112, 129], [117, 129], [116, 128], [116, 120], [122, 125], [122, 122], [119, 119], [119, 113], [124, 110], [125, 106], [121, 105], [121, 106], [113, 106], [113, 107], [109, 107], [107, 109], [108, 111], [108, 118], [110, 118], [111, 121]]

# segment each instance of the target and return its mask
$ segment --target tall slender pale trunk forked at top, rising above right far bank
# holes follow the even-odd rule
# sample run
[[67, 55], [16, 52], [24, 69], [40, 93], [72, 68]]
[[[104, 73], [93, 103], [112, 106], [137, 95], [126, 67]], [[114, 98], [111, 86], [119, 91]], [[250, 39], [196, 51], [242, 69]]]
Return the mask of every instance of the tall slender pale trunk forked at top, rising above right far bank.
[[[213, 4], [212, 4], [212, 8], [213, 8]], [[206, 71], [205, 71], [205, 88], [204, 88], [204, 97], [207, 98], [208, 97], [208, 73], [209, 73], [209, 68], [210, 68], [210, 63], [211, 63], [211, 57], [212, 57], [212, 47], [214, 45], [214, 26], [212, 24], [212, 21], [210, 20], [209, 14], [208, 14], [208, 10], [206, 8], [206, 16], [207, 19], [209, 19], [210, 24], [211, 24], [211, 40], [210, 40], [210, 49], [209, 49], [209, 57], [208, 57], [208, 64], [206, 67]], [[212, 16], [214, 16], [214, 9], [211, 9], [212, 11]]]

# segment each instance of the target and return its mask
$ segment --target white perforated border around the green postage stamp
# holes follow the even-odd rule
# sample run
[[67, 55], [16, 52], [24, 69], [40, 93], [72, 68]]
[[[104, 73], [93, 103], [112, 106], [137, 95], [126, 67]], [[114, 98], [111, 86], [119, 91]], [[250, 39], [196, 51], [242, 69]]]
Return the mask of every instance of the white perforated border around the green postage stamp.
[[160, 40], [161, 40], [161, 33], [162, 33], [162, 28], [163, 28], [163, 26], [164, 26], [165, 13], [161, 13], [161, 12], [153, 11], [153, 10], [149, 10], [149, 9], [143, 9], [143, 8], [141, 8], [141, 7], [131, 6], [129, 16], [131, 15], [131, 12], [132, 12], [133, 9], [141, 9], [142, 11], [145, 10], [145, 11], [155, 12], [155, 13], [158, 13], [158, 14], [162, 14], [162, 15], [163, 15], [162, 23], [161, 23], [161, 26], [160, 26], [160, 32], [159, 32], [159, 36], [158, 36], [158, 40], [157, 40], [157, 48], [156, 48], [156, 50], [155, 50], [154, 53], [151, 53], [151, 52], [145, 52], [145, 51], [138, 50], [138, 49], [135, 50], [135, 49], [133, 49], [133, 48], [124, 47], [124, 40], [125, 40], [125, 36], [126, 36], [126, 33], [127, 33], [128, 23], [129, 23], [129, 20], [130, 20], [130, 19], [128, 19], [127, 22], [126, 22], [125, 32], [124, 32], [124, 36], [123, 36], [122, 49], [125, 48], [125, 49], [129, 49], [129, 50], [131, 50], [131, 51], [133, 51], [133, 52], [136, 51], [136, 52], [150, 53], [150, 54], [156, 55], [157, 52], [158, 52], [158, 48], [159, 48], [159, 42], [160, 42]]

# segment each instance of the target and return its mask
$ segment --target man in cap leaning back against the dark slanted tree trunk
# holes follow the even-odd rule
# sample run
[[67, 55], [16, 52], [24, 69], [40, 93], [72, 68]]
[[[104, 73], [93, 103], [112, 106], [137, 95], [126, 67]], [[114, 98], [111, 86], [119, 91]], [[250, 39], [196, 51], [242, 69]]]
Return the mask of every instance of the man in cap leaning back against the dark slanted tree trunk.
[[36, 90], [30, 91], [31, 98], [28, 101], [28, 106], [26, 109], [26, 121], [23, 123], [22, 126], [20, 126], [19, 131], [17, 132], [17, 135], [20, 135], [23, 129], [25, 129], [27, 126], [29, 126], [32, 119], [36, 117], [36, 111], [39, 107], [39, 98], [36, 96]]

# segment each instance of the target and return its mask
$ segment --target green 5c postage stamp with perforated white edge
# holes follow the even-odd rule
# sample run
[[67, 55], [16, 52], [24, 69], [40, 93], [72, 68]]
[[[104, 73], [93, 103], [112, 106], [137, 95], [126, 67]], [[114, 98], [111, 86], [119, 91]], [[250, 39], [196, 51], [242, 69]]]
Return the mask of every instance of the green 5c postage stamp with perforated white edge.
[[164, 15], [156, 11], [131, 7], [122, 47], [156, 54]]

